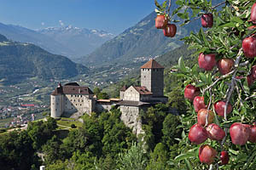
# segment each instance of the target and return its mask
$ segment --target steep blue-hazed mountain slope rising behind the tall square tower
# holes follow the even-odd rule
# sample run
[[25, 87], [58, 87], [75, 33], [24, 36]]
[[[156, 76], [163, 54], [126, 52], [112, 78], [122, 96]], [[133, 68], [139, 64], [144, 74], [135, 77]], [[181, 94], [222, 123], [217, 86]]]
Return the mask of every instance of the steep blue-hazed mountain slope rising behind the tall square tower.
[[84, 64], [101, 65], [109, 61], [117, 60], [125, 62], [137, 57], [156, 56], [180, 47], [183, 42], [180, 39], [189, 35], [190, 31], [198, 30], [201, 25], [198, 20], [192, 22], [189, 26], [182, 28], [177, 26], [176, 37], [165, 37], [162, 30], [154, 27], [153, 12], [137, 23], [136, 26], [125, 30], [118, 37], [105, 42], [100, 48], [97, 48], [92, 54], [84, 57]]

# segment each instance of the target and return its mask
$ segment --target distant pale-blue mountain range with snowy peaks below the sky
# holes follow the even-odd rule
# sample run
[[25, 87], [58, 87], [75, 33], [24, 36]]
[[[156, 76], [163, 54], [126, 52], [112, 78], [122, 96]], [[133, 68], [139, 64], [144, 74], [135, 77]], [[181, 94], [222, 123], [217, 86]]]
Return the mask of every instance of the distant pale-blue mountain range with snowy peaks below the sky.
[[0, 23], [0, 34], [13, 41], [33, 43], [52, 54], [65, 55], [70, 59], [90, 54], [103, 42], [114, 37], [106, 31], [74, 26], [49, 27], [34, 31], [22, 26], [3, 23]]

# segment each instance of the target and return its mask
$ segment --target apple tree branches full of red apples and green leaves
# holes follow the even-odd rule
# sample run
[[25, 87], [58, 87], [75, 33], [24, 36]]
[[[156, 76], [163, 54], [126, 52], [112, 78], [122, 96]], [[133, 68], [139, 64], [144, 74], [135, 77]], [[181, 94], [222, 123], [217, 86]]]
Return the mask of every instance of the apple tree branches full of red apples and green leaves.
[[[177, 8], [170, 11], [172, 3]], [[180, 58], [173, 73], [182, 77], [189, 114], [181, 116], [180, 155], [171, 164], [177, 169], [255, 169], [256, 1], [155, 4], [169, 22], [175, 22], [171, 13], [183, 21], [181, 26], [201, 20], [200, 31], [183, 38], [195, 49], [198, 64], [189, 68]]]

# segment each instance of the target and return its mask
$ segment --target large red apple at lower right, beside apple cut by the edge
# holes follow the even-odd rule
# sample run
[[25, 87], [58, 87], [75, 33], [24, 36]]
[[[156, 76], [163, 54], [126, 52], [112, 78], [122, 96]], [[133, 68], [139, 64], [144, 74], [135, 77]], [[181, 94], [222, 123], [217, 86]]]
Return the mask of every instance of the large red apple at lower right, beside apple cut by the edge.
[[230, 127], [230, 137], [233, 144], [246, 144], [249, 139], [249, 135], [250, 129], [239, 122], [233, 123]]

